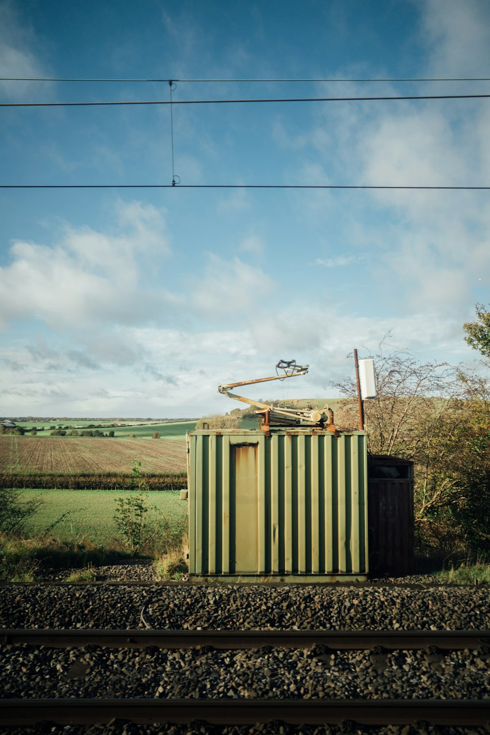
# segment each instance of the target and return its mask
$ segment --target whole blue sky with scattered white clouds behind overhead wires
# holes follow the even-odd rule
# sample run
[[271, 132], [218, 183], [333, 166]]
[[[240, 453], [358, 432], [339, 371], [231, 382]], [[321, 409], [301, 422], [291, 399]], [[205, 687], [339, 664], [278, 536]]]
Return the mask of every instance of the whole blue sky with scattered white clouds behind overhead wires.
[[[489, 62], [487, 0], [0, 0], [3, 79], [162, 80], [0, 81], [3, 102], [170, 101], [170, 79], [174, 102], [484, 94], [229, 80], [490, 77]], [[334, 397], [347, 355], [386, 334], [473, 365], [490, 191], [243, 186], [486, 186], [489, 123], [486, 98], [1, 108], [0, 184], [131, 186], [0, 189], [0, 415], [226, 412], [239, 404], [217, 386], [278, 359], [309, 373], [245, 395]]]

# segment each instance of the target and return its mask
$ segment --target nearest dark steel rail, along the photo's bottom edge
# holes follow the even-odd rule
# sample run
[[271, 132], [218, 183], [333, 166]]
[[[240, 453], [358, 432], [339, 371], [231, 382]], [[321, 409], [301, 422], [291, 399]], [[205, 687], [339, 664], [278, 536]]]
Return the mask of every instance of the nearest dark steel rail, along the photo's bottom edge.
[[114, 718], [138, 724], [190, 723], [253, 725], [281, 720], [292, 725], [486, 725], [490, 700], [0, 700], [2, 725], [105, 724]]

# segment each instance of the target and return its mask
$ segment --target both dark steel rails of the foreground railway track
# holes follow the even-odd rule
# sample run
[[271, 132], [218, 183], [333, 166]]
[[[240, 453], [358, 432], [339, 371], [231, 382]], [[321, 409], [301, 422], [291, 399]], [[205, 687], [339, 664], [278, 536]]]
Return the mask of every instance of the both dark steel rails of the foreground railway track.
[[[383, 664], [396, 650], [426, 650], [436, 660], [450, 650], [473, 650], [490, 661], [490, 631], [169, 631], [169, 630], [46, 630], [0, 629], [0, 645], [45, 648], [313, 648], [317, 653], [370, 650], [372, 663]], [[280, 720], [291, 725], [434, 725], [485, 726], [490, 723], [490, 700], [339, 700], [309, 699], [4, 699], [1, 725], [59, 725], [110, 723], [115, 718], [133, 723], [190, 723], [253, 725]]]

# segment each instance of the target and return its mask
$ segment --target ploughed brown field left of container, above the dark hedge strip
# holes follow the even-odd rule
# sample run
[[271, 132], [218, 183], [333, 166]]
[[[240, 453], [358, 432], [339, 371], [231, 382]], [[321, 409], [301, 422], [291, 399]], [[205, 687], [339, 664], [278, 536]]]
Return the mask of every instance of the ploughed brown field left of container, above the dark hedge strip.
[[0, 467], [21, 473], [184, 473], [186, 443], [103, 437], [0, 437]]

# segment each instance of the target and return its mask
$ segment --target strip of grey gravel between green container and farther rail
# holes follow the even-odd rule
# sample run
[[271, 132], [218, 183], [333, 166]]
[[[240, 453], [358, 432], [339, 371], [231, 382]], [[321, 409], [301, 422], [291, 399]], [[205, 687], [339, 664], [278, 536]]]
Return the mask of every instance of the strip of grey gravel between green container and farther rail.
[[0, 587], [2, 628], [482, 630], [486, 587], [60, 584]]

